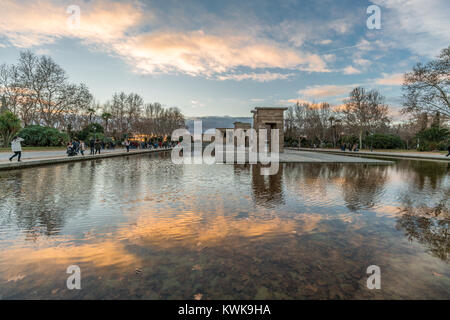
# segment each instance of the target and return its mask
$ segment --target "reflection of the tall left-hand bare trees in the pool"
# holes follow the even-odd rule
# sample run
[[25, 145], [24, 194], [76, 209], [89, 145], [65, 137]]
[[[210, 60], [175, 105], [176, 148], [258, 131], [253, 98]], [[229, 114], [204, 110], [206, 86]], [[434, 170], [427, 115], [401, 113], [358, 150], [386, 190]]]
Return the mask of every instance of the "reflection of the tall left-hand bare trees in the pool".
[[[74, 208], [83, 211], [89, 207], [95, 180], [90, 173], [99, 163], [101, 160], [3, 173], [0, 178], [6, 192], [0, 195], [0, 212], [10, 213], [9, 222], [23, 230], [27, 240], [58, 235]], [[73, 203], [84, 192], [84, 200]]]

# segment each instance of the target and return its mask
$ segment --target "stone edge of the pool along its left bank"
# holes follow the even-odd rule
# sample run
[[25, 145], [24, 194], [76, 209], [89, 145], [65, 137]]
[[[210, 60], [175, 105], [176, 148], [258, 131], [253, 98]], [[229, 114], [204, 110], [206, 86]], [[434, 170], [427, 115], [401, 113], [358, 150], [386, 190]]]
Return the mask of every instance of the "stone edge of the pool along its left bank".
[[139, 151], [130, 151], [130, 152], [124, 151], [124, 152], [104, 153], [104, 154], [99, 154], [99, 155], [85, 155], [85, 156], [76, 156], [76, 157], [36, 159], [36, 160], [27, 160], [27, 161], [22, 161], [22, 162], [7, 162], [7, 163], [0, 164], [0, 171], [2, 171], [2, 170], [17, 170], [17, 169], [25, 169], [25, 168], [52, 165], [52, 164], [106, 159], [106, 158], [140, 155], [140, 154], [148, 154], [148, 153], [168, 152], [171, 150], [172, 149], [169, 148], [169, 149], [157, 149], [157, 150], [139, 150]]

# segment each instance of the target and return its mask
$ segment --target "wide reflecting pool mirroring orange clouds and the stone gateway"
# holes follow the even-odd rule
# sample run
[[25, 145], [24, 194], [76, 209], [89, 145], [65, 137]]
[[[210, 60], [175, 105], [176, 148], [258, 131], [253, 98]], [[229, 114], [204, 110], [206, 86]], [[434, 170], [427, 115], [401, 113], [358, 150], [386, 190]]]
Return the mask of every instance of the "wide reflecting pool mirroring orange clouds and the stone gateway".
[[450, 299], [449, 168], [261, 176], [165, 153], [0, 172], [0, 298]]

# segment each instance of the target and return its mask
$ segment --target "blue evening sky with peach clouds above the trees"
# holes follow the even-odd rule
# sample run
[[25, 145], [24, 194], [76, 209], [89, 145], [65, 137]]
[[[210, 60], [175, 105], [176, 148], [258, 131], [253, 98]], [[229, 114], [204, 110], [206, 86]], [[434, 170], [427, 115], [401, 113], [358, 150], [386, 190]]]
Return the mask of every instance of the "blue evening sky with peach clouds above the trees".
[[[368, 11], [373, 5], [379, 11]], [[399, 118], [403, 74], [450, 45], [448, 0], [0, 0], [0, 7], [0, 64], [29, 49], [51, 56], [101, 103], [133, 92], [188, 117], [248, 117], [256, 106], [297, 101], [339, 105], [363, 86], [380, 90]]]

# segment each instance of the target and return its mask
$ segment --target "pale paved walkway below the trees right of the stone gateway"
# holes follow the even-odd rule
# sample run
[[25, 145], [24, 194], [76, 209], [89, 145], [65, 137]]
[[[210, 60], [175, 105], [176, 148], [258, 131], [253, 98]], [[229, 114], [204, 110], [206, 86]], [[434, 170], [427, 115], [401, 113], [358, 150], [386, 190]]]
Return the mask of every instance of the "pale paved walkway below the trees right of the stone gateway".
[[285, 148], [285, 150], [297, 150], [301, 152], [316, 152], [316, 153], [328, 153], [328, 154], [342, 154], [346, 156], [360, 157], [383, 157], [383, 158], [402, 158], [402, 159], [421, 159], [421, 160], [441, 160], [450, 161], [450, 157], [446, 157], [445, 154], [429, 154], [419, 152], [377, 152], [377, 151], [341, 151], [339, 149], [312, 149], [312, 148]]

